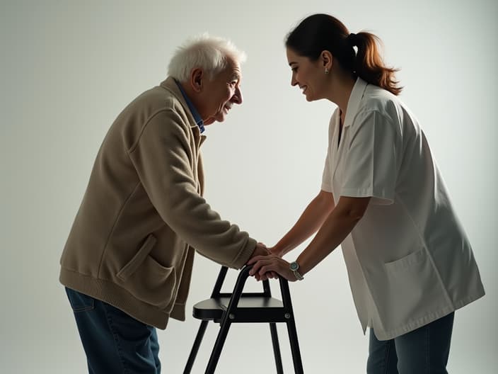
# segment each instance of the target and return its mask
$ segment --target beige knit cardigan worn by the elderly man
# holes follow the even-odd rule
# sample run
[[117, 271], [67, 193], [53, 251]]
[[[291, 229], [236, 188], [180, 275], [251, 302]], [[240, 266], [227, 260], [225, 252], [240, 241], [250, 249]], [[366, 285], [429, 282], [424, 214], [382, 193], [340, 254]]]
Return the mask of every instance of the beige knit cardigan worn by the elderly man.
[[241, 268], [256, 241], [202, 198], [205, 137], [173, 78], [112, 124], [61, 258], [60, 281], [165, 329], [185, 319], [194, 248]]

